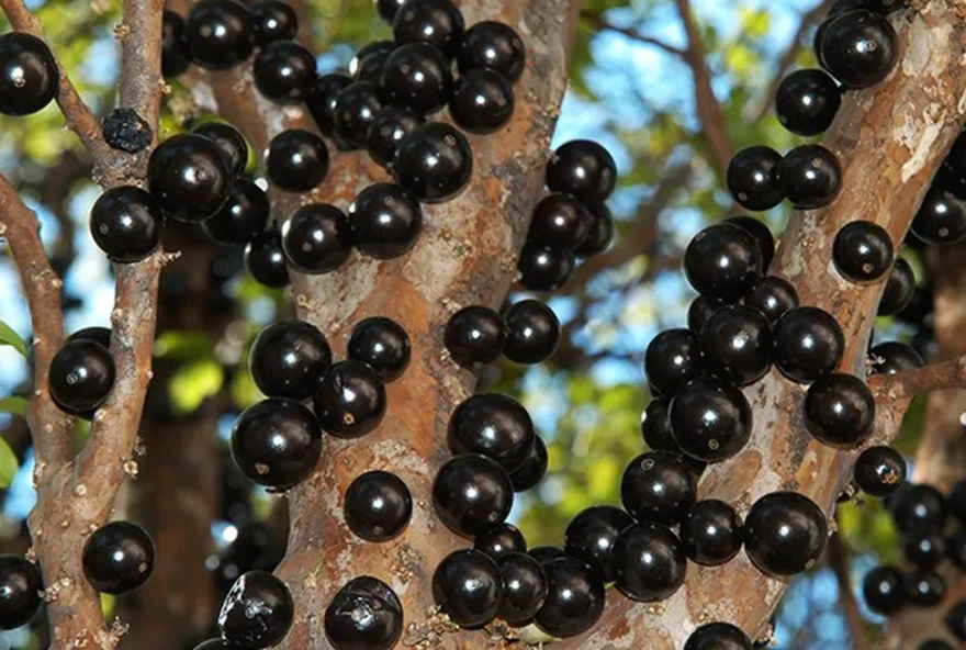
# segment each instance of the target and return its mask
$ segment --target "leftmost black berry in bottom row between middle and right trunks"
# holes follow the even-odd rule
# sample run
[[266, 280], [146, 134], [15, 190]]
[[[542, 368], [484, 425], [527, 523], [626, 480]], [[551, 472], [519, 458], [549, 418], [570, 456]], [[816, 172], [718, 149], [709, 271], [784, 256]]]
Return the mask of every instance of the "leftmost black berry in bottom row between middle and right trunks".
[[482, 627], [496, 617], [503, 602], [499, 567], [480, 551], [453, 551], [433, 573], [433, 597], [454, 624]]

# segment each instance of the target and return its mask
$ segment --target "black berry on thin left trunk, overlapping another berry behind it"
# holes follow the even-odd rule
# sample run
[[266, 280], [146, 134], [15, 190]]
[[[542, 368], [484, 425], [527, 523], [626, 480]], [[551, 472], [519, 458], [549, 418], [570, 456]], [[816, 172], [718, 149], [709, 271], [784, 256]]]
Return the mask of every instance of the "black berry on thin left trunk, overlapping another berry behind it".
[[90, 339], [65, 344], [50, 359], [50, 397], [61, 411], [87, 414], [108, 401], [115, 373], [114, 358], [101, 344]]

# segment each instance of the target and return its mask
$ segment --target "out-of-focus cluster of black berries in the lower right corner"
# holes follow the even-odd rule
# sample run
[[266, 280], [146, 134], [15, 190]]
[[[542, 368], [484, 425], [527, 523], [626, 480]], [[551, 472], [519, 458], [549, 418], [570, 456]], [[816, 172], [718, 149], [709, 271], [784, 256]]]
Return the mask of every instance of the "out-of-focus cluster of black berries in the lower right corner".
[[[876, 567], [863, 581], [862, 593], [869, 609], [892, 616], [903, 608], [937, 606], [946, 596], [940, 574], [948, 560], [966, 570], [966, 480], [943, 494], [926, 484], [907, 484], [887, 500], [896, 527], [905, 536], [908, 570]], [[958, 641], [966, 642], [966, 601], [953, 605], [943, 619]], [[940, 640], [923, 641], [917, 650], [952, 650]]]

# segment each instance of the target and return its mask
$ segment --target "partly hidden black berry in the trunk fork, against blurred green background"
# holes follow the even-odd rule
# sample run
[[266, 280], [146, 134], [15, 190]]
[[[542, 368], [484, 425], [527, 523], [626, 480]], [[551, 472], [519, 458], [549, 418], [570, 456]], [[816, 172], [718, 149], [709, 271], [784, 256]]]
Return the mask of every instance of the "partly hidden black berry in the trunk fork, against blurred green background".
[[614, 582], [614, 542], [632, 524], [629, 514], [613, 505], [584, 508], [566, 526], [563, 534], [564, 552], [589, 564], [604, 582]]

